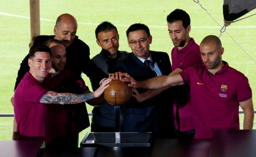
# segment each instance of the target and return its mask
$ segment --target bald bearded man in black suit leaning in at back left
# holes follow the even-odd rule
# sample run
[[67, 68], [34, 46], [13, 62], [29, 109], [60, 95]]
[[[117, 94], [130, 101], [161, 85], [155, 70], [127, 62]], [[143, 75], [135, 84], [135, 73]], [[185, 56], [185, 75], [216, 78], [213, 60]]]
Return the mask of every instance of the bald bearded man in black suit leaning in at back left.
[[[48, 39], [57, 39], [66, 47], [67, 61], [65, 68], [75, 72], [78, 76], [86, 74], [89, 78], [100, 82], [101, 79], [108, 77], [100, 68], [98, 68], [90, 59], [90, 48], [82, 40], [76, 36], [77, 22], [70, 14], [62, 14], [57, 18], [53, 32], [55, 35], [40, 35], [35, 39], [34, 44], [44, 43]], [[18, 77], [15, 87], [18, 86], [20, 80], [29, 71], [27, 55], [20, 64]]]

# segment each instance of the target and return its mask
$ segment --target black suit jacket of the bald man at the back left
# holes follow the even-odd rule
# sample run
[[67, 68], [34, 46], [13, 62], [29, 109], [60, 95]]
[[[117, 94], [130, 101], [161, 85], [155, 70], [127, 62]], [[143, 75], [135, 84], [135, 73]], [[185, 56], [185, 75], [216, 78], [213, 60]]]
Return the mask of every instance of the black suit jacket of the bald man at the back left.
[[[35, 39], [34, 44], [43, 44], [48, 39], [54, 39], [55, 35], [40, 35]], [[34, 45], [33, 44], [33, 45]], [[78, 76], [83, 72], [87, 77], [100, 82], [103, 78], [108, 77], [100, 68], [98, 68], [90, 59], [90, 48], [82, 40], [75, 37], [72, 44], [66, 47], [66, 65], [65, 68], [75, 72]], [[27, 71], [29, 54], [23, 59], [20, 64], [20, 70], [16, 79], [14, 90], [17, 88], [20, 80], [24, 77]]]

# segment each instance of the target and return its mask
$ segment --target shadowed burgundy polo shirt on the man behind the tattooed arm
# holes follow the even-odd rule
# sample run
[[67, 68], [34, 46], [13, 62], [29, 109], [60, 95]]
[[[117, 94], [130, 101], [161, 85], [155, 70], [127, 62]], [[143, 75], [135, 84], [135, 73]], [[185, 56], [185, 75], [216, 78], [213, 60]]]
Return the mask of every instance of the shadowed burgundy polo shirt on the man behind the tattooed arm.
[[[44, 87], [50, 91], [59, 93], [82, 94], [89, 90], [81, 77], [68, 69], [60, 71], [57, 75], [44, 79]], [[74, 133], [75, 125], [72, 122], [74, 117], [73, 106], [70, 104], [47, 104], [50, 121], [51, 137], [56, 138]]]

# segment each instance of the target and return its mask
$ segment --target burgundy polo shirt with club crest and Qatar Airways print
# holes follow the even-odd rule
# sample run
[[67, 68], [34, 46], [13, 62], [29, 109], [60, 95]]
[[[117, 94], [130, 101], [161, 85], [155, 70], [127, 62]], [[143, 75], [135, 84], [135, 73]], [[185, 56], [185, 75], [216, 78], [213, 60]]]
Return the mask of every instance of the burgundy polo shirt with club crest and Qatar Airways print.
[[239, 129], [239, 102], [252, 98], [247, 77], [225, 66], [212, 75], [205, 65], [180, 72], [190, 85], [196, 138], [212, 138], [213, 130]]

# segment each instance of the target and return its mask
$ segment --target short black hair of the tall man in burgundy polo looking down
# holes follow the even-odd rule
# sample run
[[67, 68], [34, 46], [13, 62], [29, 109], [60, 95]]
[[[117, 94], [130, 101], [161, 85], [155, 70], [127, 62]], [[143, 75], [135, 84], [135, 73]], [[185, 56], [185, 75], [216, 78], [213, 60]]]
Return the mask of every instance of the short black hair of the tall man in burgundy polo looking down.
[[172, 11], [166, 18], [168, 23], [174, 23], [176, 21], [182, 21], [184, 28], [187, 28], [190, 25], [190, 17], [186, 11], [181, 9], [175, 9]]

